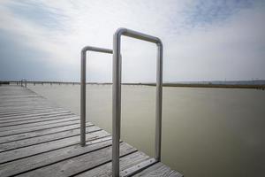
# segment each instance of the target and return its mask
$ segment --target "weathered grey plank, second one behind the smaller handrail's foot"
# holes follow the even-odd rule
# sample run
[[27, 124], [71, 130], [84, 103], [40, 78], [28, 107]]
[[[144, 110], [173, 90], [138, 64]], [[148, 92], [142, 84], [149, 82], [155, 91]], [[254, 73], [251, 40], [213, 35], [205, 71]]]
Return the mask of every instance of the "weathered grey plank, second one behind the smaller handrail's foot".
[[[102, 130], [102, 129], [96, 126], [91, 126], [91, 127], [87, 127], [86, 133], [88, 134], [88, 133], [92, 133], [92, 132], [99, 131], [99, 130]], [[0, 152], [4, 152], [7, 150], [15, 150], [15, 149], [31, 146], [34, 144], [43, 143], [43, 142], [57, 141], [63, 138], [79, 136], [79, 135], [80, 135], [80, 129], [72, 129], [72, 130], [59, 132], [57, 134], [52, 134], [52, 135], [42, 135], [38, 137], [27, 138], [25, 140], [19, 140], [16, 142], [1, 143]]]

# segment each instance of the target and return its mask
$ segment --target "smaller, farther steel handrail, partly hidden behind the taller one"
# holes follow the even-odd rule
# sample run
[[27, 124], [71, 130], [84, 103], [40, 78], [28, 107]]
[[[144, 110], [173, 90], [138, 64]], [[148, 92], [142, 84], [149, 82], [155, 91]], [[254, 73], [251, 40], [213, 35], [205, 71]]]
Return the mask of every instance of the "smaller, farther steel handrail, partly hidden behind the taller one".
[[86, 46], [81, 50], [81, 76], [80, 76], [80, 145], [86, 145], [86, 61], [87, 51], [112, 54], [112, 50]]

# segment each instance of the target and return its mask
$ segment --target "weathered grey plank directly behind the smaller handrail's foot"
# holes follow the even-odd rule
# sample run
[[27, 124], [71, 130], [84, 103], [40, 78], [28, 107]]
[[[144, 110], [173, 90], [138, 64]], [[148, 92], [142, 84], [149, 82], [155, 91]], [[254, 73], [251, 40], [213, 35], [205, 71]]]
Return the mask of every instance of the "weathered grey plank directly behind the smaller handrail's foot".
[[[104, 130], [97, 131], [91, 134], [87, 134], [87, 142], [95, 139], [99, 139], [105, 136], [109, 136], [110, 134]], [[19, 158], [27, 158], [30, 156], [34, 156], [36, 154], [40, 154], [43, 152], [47, 152], [50, 150], [57, 150], [64, 148], [66, 146], [71, 146], [74, 144], [79, 144], [79, 136], [73, 136], [69, 138], [64, 138], [61, 140], [57, 140], [56, 142], [44, 142], [41, 144], [36, 144], [33, 146], [28, 146], [25, 148], [20, 148], [17, 150], [9, 150], [0, 153], [0, 164], [4, 164], [13, 160], [17, 160]]]

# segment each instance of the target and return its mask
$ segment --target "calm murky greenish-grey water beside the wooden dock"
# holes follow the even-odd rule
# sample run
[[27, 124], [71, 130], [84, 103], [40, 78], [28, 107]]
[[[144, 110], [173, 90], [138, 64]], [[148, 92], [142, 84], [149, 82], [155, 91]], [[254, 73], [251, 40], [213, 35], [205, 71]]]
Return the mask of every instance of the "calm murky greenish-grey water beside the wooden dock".
[[[79, 86], [29, 85], [79, 114]], [[111, 86], [87, 87], [87, 119], [111, 133]], [[155, 87], [123, 86], [122, 139], [154, 156]], [[265, 91], [163, 88], [162, 161], [186, 177], [265, 176]]]

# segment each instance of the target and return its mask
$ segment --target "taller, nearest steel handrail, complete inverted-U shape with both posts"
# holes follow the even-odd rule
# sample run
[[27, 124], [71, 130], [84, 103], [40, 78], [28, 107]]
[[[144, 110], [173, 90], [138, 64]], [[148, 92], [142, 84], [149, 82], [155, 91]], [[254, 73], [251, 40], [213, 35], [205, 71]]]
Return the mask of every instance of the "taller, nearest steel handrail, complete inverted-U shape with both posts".
[[163, 92], [163, 43], [151, 35], [119, 28], [113, 36], [113, 73], [112, 73], [112, 176], [119, 176], [119, 140], [121, 121], [121, 36], [125, 35], [142, 41], [153, 42], [157, 46], [156, 99], [155, 99], [155, 161], [161, 161], [162, 135], [162, 92]]

